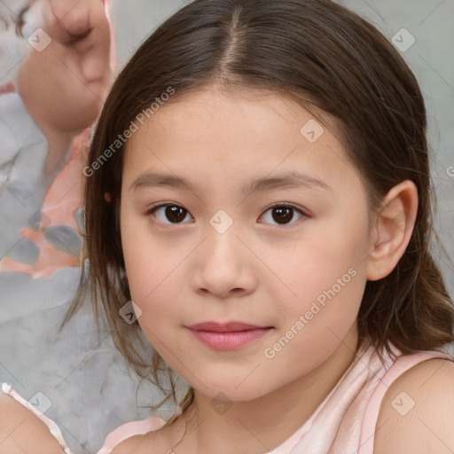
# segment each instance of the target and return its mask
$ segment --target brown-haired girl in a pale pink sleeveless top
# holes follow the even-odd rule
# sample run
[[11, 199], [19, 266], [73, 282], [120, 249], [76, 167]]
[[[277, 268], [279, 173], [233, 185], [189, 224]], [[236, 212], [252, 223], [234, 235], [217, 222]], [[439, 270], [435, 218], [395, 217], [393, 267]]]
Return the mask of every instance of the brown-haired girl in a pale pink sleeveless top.
[[398, 51], [330, 0], [196, 0], [153, 33], [90, 145], [63, 325], [90, 295], [139, 376], [191, 387], [99, 454], [454, 450], [425, 131]]

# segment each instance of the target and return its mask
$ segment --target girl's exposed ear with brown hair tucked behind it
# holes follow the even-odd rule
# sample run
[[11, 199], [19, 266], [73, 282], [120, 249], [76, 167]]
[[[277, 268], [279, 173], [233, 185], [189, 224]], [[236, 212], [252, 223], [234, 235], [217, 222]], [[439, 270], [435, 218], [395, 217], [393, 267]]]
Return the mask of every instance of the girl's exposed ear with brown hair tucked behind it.
[[371, 232], [367, 280], [386, 278], [403, 256], [418, 213], [418, 188], [411, 180], [397, 184], [382, 201]]

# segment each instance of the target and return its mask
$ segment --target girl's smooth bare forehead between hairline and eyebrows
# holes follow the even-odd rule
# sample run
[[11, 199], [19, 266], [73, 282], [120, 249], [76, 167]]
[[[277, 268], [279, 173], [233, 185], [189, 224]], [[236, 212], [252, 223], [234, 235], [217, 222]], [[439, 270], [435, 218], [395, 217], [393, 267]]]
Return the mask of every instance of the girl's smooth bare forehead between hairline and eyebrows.
[[124, 183], [144, 170], [218, 184], [295, 169], [334, 186], [357, 179], [333, 130], [288, 98], [215, 88], [174, 97], [130, 137]]

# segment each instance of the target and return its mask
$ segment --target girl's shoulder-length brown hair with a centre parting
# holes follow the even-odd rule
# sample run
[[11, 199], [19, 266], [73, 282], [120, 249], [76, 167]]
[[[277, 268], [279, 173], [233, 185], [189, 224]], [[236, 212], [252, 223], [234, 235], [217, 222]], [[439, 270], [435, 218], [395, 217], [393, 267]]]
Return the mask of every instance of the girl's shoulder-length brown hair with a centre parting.
[[[426, 108], [415, 76], [391, 43], [366, 20], [330, 0], [196, 0], [164, 22], [119, 74], [99, 117], [88, 165], [168, 87], [176, 90], [173, 102], [214, 84], [272, 90], [312, 113], [334, 118], [363, 177], [371, 209], [380, 209], [380, 200], [395, 184], [406, 179], [416, 184], [419, 210], [410, 244], [387, 278], [366, 283], [357, 319], [359, 338], [391, 355], [389, 344], [407, 354], [454, 340], [452, 301], [430, 253], [434, 189]], [[96, 317], [98, 309], [105, 310], [115, 345], [127, 362], [142, 379], [153, 375], [160, 386], [162, 358], [153, 354], [152, 361], [144, 353], [138, 323], [129, 325], [119, 317], [119, 309], [130, 300], [119, 223], [123, 149], [86, 180], [85, 252], [90, 266], [82, 267], [63, 325], [88, 295]], [[105, 192], [112, 194], [112, 203], [106, 203]], [[191, 391], [184, 408], [192, 401]]]

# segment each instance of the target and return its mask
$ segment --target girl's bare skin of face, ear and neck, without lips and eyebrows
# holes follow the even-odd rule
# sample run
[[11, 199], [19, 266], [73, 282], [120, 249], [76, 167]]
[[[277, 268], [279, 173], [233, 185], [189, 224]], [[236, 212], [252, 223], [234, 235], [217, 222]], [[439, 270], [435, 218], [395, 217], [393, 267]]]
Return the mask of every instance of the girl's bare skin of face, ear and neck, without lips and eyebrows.
[[[197, 423], [189, 425], [183, 452], [259, 454], [301, 427], [353, 361], [366, 280], [386, 276], [408, 244], [411, 228], [397, 228], [395, 219], [412, 225], [416, 213], [416, 188], [404, 182], [387, 200], [390, 215], [371, 223], [363, 182], [333, 132], [325, 128], [310, 144], [300, 133], [309, 112], [272, 93], [255, 94], [235, 97], [211, 87], [180, 98], [127, 144], [126, 271], [145, 336], [195, 388], [188, 415]], [[332, 190], [281, 188], [247, 198], [239, 191], [248, 179], [294, 169]], [[145, 171], [184, 176], [197, 190], [131, 189]], [[308, 216], [294, 210], [287, 225], [277, 223], [270, 205], [278, 202]], [[183, 207], [181, 218], [166, 217], [162, 207], [146, 214], [161, 203]], [[209, 223], [220, 209], [233, 220], [222, 234]], [[274, 357], [264, 356], [352, 268], [355, 278], [317, 317]], [[185, 327], [231, 320], [273, 329], [246, 347], [219, 351]], [[215, 411], [226, 401], [228, 411]], [[163, 447], [181, 439], [189, 416], [160, 431]]]

